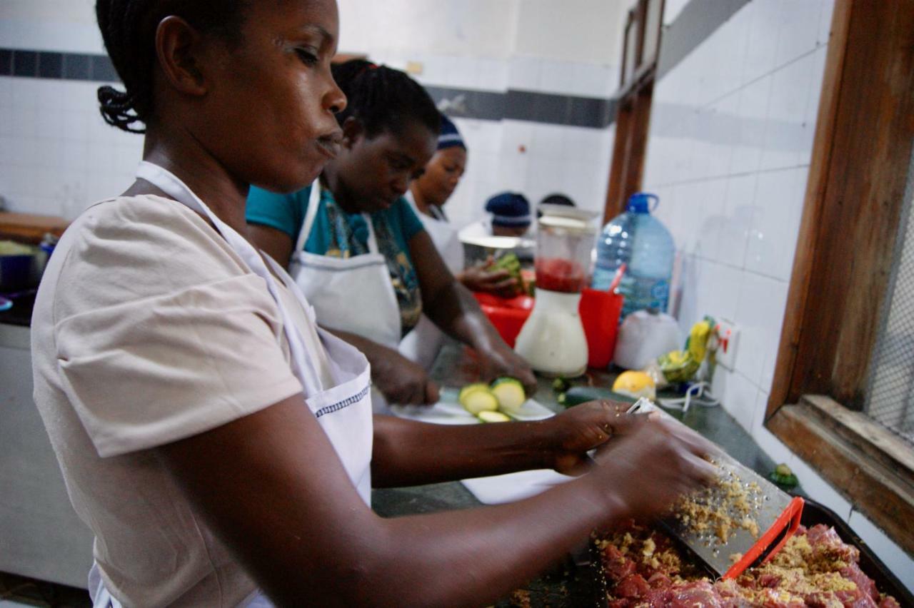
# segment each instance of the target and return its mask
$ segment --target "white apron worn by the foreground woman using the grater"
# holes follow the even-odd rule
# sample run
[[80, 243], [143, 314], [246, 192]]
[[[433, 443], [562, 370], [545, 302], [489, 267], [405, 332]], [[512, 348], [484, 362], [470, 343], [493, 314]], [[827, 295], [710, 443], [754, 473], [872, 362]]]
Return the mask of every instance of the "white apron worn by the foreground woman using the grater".
[[[141, 162], [136, 176], [154, 184], [177, 202], [207, 216], [226, 240], [228, 246], [244, 260], [256, 275], [266, 281], [267, 288], [280, 311], [283, 331], [289, 341], [292, 372], [302, 383], [304, 393], [309, 395], [305, 398], [304, 403], [314, 413], [318, 424], [330, 439], [346, 473], [358, 490], [359, 496], [370, 506], [373, 423], [370, 396], [371, 370], [365, 355], [345, 341], [318, 328], [317, 333], [326, 349], [330, 373], [335, 384], [330, 388], [324, 388], [312, 358], [304, 349], [302, 334], [279, 297], [279, 286], [267, 268], [264, 258], [268, 260], [273, 271], [282, 278], [282, 282], [292, 292], [295, 299], [299, 300], [314, 322], [314, 310], [292, 278], [271, 257], [261, 257], [243, 236], [213, 214], [207, 205], [197, 197], [197, 194], [194, 194], [173, 173], [151, 162]], [[95, 608], [107, 608], [108, 606], [121, 608], [121, 603], [114, 599], [105, 588], [97, 564], [94, 564], [90, 571], [89, 585]], [[269, 606], [271, 603], [262, 594], [255, 593], [241, 605]]]

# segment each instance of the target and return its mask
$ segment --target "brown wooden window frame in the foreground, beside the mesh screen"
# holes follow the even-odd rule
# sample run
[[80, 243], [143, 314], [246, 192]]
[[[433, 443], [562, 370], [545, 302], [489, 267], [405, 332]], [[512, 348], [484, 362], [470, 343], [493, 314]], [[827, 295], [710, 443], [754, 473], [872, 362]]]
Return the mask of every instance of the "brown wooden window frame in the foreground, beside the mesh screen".
[[914, 142], [914, 4], [836, 0], [766, 426], [914, 554], [914, 453], [863, 414]]

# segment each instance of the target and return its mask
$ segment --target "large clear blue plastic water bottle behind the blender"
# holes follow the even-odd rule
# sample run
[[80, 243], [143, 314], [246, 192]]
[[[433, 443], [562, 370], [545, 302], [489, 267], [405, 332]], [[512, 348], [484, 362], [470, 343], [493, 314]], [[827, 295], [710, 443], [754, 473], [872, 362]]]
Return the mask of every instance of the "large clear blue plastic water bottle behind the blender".
[[609, 289], [616, 270], [627, 265], [619, 291], [625, 296], [622, 318], [635, 310], [666, 311], [673, 275], [675, 243], [660, 220], [651, 215], [655, 194], [637, 193], [629, 198], [628, 210], [603, 227], [597, 237], [597, 260], [591, 287]]

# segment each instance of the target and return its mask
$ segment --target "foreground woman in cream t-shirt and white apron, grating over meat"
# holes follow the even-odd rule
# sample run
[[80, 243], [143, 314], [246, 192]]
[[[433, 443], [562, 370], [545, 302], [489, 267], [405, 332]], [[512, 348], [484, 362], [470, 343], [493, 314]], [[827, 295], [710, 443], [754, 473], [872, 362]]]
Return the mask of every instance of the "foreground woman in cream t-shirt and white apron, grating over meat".
[[[707, 475], [695, 438], [610, 404], [482, 428], [373, 421], [365, 357], [242, 236], [251, 183], [301, 189], [340, 145], [334, 1], [97, 12], [126, 87], [101, 111], [145, 132], [143, 162], [69, 226], [32, 319], [35, 401], [95, 534], [95, 606], [483, 604]], [[625, 458], [601, 451], [537, 498], [370, 508], [372, 484], [578, 474], [611, 433], [632, 435], [607, 444]]]

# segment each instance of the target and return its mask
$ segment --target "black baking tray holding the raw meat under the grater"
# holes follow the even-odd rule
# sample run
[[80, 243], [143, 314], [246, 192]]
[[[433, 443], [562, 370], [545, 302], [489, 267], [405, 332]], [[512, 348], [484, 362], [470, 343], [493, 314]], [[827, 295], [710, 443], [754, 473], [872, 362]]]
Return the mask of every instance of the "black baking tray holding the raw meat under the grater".
[[[841, 540], [854, 545], [860, 551], [860, 570], [873, 579], [873, 582], [876, 582], [876, 588], [880, 593], [891, 595], [901, 606], [914, 607], [914, 594], [909, 592], [904, 583], [898, 580], [898, 576], [877, 558], [873, 550], [847, 525], [844, 519], [838, 517], [838, 514], [832, 509], [811, 498], [803, 497], [803, 500], [806, 502], [800, 519], [803, 526], [812, 528], [817, 524], [825, 524], [834, 528]], [[592, 542], [590, 543], [590, 571], [594, 578], [594, 605], [605, 608], [607, 605], [606, 592], [608, 591], [606, 576], [600, 561], [600, 551]]]

